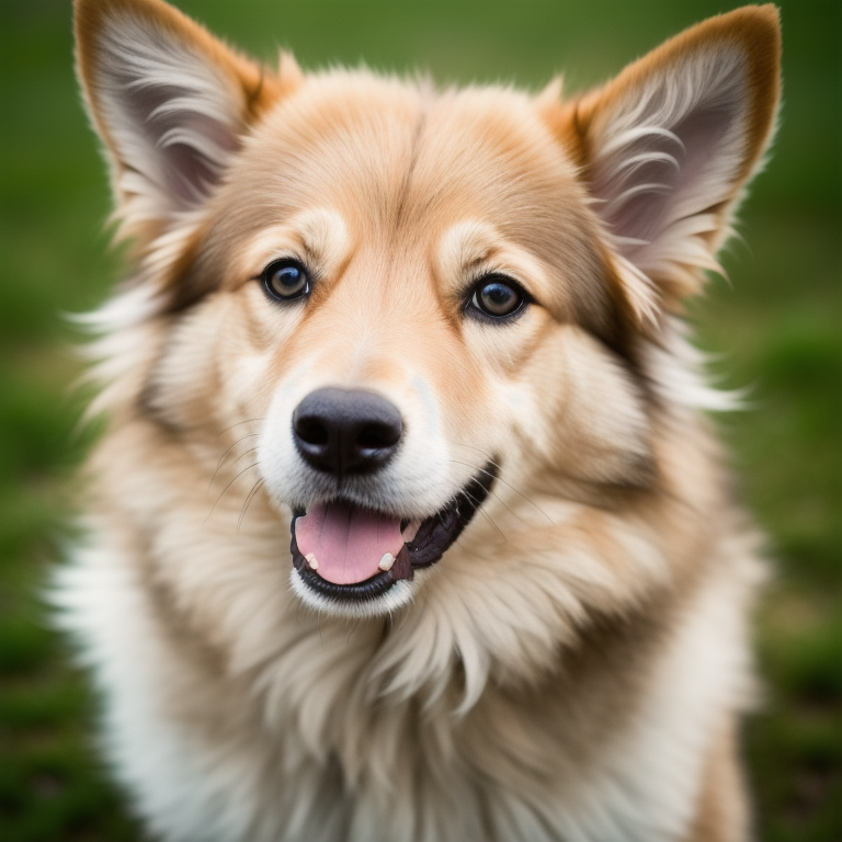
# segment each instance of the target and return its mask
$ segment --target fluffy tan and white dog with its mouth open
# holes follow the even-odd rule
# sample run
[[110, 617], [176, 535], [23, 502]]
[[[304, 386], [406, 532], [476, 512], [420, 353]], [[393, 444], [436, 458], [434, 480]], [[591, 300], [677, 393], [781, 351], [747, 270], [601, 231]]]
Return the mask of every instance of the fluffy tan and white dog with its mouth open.
[[77, 0], [133, 269], [61, 622], [149, 832], [726, 842], [761, 542], [683, 327], [772, 5], [566, 98], [271, 69]]

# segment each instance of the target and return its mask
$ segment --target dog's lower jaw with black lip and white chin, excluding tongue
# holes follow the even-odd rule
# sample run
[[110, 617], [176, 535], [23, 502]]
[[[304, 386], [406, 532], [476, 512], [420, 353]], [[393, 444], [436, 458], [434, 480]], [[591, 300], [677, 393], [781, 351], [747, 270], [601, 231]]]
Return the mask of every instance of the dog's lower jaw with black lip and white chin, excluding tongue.
[[[296, 521], [306, 512], [296, 512], [289, 547], [293, 590], [306, 605], [331, 616], [375, 617], [403, 607], [412, 601], [416, 572], [435, 565], [456, 542], [491, 491], [497, 473], [497, 465], [489, 463], [432, 516], [414, 522], [405, 519], [405, 543], [391, 566], [356, 582], [337, 583], [319, 574], [319, 566], [314, 567], [298, 547]], [[338, 499], [337, 505], [348, 504]]]

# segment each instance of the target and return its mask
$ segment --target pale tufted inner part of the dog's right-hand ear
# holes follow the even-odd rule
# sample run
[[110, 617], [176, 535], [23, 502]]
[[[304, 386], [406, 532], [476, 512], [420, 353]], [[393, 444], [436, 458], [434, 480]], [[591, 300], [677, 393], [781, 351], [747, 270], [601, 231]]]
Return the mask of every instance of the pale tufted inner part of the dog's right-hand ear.
[[626, 70], [592, 106], [587, 173], [618, 271], [648, 278], [673, 308], [698, 289], [699, 269], [719, 268], [727, 209], [753, 155], [751, 88], [737, 44], [658, 58]]

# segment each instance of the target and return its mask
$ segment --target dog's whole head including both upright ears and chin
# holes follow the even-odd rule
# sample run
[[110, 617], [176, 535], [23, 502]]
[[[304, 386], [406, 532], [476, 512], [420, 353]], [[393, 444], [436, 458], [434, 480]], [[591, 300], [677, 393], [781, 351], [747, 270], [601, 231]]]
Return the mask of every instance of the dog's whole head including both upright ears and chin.
[[670, 316], [769, 139], [773, 7], [571, 101], [271, 71], [159, 0], [77, 30], [139, 258], [115, 388], [208, 478], [252, 436], [305, 602], [392, 611], [457, 538], [481, 565], [510, 517], [528, 553], [659, 481]]

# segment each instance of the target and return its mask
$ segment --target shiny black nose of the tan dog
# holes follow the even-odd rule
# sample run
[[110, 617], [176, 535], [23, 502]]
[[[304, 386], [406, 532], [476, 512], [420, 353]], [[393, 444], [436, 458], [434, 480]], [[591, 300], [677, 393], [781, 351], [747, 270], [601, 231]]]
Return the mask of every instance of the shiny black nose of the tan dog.
[[402, 432], [397, 408], [361, 389], [317, 389], [293, 412], [298, 453], [317, 470], [340, 479], [385, 465], [398, 450]]

